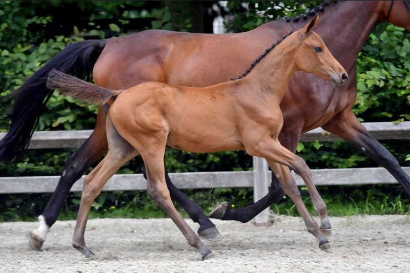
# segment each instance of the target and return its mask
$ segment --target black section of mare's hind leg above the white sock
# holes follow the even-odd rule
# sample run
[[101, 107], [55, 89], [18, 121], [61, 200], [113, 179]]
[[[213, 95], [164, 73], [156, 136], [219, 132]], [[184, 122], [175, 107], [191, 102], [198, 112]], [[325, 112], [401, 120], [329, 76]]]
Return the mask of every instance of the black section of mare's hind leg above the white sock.
[[[88, 139], [80, 149], [67, 159], [63, 175], [58, 181], [57, 187], [43, 212], [46, 224], [51, 227], [57, 220], [63, 208], [64, 202], [70, 193], [73, 184], [81, 178], [84, 172], [106, 152], [106, 149], [96, 151], [98, 154], [91, 154], [92, 149], [87, 149]], [[94, 150], [95, 151], [95, 150]]]

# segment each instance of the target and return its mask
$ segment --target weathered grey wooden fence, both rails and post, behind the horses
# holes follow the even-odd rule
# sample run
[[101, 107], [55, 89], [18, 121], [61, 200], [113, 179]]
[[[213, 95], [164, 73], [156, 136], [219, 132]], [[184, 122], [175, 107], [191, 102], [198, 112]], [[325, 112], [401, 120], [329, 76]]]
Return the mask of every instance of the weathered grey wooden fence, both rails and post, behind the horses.
[[[410, 121], [367, 122], [362, 123], [376, 139], [409, 139]], [[75, 148], [79, 147], [91, 135], [92, 130], [83, 131], [47, 131], [35, 132], [29, 149]], [[6, 133], [0, 133], [0, 139]], [[301, 142], [341, 140], [318, 128], [301, 136]], [[254, 187], [254, 201], [268, 193], [271, 181], [268, 163], [258, 157], [253, 158], [253, 172], [205, 172], [174, 173], [170, 178], [178, 188], [217, 188], [217, 187]], [[403, 167], [410, 175], [410, 167]], [[294, 174], [298, 186], [303, 180]], [[325, 169], [312, 170], [315, 185], [358, 185], [358, 184], [395, 184], [396, 179], [383, 168], [362, 169]], [[71, 191], [83, 190], [83, 176]], [[15, 193], [49, 193], [55, 190], [59, 176], [0, 177], [0, 194]], [[105, 185], [103, 191], [146, 190], [147, 182], [142, 174], [114, 175]], [[268, 221], [269, 209], [255, 217], [256, 223]]]

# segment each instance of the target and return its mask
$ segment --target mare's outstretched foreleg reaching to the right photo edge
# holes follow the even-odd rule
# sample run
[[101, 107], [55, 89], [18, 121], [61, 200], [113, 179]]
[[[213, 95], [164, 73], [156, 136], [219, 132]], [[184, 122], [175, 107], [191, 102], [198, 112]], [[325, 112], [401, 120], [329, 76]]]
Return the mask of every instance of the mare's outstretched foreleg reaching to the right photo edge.
[[356, 149], [383, 166], [410, 196], [410, 177], [401, 169], [397, 159], [360, 123], [352, 110], [346, 110], [322, 126], [323, 130], [340, 136]]

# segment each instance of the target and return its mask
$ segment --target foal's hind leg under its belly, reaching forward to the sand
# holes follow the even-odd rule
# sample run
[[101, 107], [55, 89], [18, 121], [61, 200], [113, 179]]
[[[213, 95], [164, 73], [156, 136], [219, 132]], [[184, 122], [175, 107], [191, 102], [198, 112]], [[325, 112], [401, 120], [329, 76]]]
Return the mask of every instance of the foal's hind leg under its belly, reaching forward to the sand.
[[[150, 142], [148, 142], [150, 143]], [[155, 149], [155, 150], [154, 150]], [[162, 150], [162, 151], [161, 151]], [[182, 216], [174, 207], [171, 201], [170, 193], [165, 181], [165, 169], [163, 168], [163, 149], [153, 148], [151, 151], [141, 151], [142, 159], [144, 159], [148, 180], [148, 195], [163, 209], [164, 212], [174, 221], [181, 230], [182, 234], [188, 241], [188, 244], [195, 247], [202, 255], [202, 260], [213, 258], [214, 255], [193, 232], [188, 224], [183, 220]]]

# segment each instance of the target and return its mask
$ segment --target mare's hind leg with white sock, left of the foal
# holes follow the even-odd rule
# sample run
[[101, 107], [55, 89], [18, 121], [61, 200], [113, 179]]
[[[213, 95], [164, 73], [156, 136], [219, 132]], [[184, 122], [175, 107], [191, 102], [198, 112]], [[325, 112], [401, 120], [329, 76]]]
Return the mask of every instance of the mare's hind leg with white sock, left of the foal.
[[43, 214], [38, 217], [39, 227], [29, 231], [29, 242], [33, 249], [39, 251], [50, 227], [57, 220], [64, 202], [73, 184], [81, 178], [85, 171], [107, 152], [106, 116], [110, 106], [105, 104], [98, 108], [97, 125], [94, 132], [81, 147], [67, 159], [63, 175], [48, 202]]

